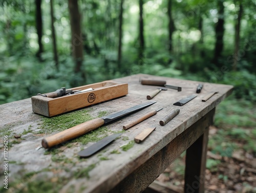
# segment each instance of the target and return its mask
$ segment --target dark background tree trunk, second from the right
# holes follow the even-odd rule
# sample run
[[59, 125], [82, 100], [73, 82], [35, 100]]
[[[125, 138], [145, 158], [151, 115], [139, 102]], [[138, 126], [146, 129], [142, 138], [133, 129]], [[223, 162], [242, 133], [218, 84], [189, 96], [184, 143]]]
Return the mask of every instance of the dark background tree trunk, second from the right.
[[221, 57], [221, 53], [223, 50], [223, 36], [224, 36], [224, 5], [223, 1], [218, 1], [218, 23], [215, 28], [215, 53], [214, 53], [214, 63], [217, 67], [221, 67], [221, 63], [219, 63], [219, 58]]

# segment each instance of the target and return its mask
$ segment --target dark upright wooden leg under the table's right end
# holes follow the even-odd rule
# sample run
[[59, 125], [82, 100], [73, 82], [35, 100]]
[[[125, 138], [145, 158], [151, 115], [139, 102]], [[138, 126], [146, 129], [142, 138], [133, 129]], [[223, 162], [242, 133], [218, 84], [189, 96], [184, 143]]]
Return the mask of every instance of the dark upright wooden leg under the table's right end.
[[204, 192], [209, 127], [186, 151], [185, 193]]

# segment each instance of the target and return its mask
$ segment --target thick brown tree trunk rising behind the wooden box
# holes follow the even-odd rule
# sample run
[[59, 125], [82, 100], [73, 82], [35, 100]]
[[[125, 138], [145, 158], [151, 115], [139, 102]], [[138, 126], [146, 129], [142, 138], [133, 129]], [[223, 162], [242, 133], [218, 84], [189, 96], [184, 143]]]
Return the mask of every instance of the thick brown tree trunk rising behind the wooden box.
[[[75, 61], [74, 72], [81, 72], [83, 61], [83, 40], [81, 33], [80, 20], [81, 16], [78, 9], [77, 0], [69, 0], [69, 12], [70, 12], [70, 24], [71, 24], [71, 43], [72, 43], [72, 55]], [[85, 79], [84, 72], [81, 72], [82, 78]]]

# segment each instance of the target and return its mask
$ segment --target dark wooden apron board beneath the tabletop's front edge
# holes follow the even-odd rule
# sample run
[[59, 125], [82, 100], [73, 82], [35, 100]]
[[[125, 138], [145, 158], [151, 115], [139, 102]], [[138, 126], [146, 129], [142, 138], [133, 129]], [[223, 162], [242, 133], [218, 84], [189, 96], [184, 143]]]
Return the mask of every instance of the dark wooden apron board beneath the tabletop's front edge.
[[[151, 159], [140, 165], [110, 192], [141, 192], [205, 132], [213, 122], [215, 109], [187, 128]], [[129, 188], [126, 188], [129, 187]]]

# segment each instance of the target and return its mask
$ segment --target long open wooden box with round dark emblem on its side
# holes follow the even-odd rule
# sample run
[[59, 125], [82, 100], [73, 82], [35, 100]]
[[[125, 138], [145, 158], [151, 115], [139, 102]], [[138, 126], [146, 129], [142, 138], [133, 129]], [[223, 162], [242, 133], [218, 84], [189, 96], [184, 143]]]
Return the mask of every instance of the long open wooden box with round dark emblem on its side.
[[117, 83], [115, 81], [103, 81], [83, 85], [81, 87], [72, 88], [72, 90], [84, 90], [89, 88], [92, 88], [93, 91], [65, 95], [58, 98], [48, 98], [40, 95], [32, 96], [32, 111], [40, 115], [52, 117], [128, 94], [128, 84]]

